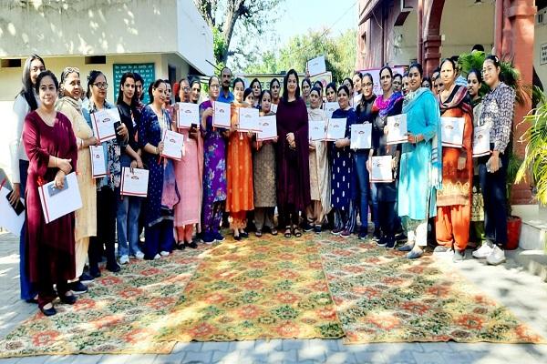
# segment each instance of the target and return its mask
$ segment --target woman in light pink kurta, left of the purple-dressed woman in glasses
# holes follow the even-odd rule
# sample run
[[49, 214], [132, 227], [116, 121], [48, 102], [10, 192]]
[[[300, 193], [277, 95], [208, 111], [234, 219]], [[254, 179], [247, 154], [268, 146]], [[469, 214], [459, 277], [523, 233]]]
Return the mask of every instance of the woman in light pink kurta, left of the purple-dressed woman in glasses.
[[[190, 89], [188, 98], [186, 98], [186, 94], [181, 94], [181, 102], [197, 104], [201, 90], [200, 82], [194, 80], [190, 86], [186, 78], [183, 78], [180, 85], [181, 92], [185, 93], [186, 88]], [[176, 112], [175, 115], [177, 115]], [[190, 127], [183, 126], [178, 128], [179, 133], [184, 136], [184, 153], [181, 160], [174, 162], [177, 187], [181, 193], [182, 201], [175, 206], [174, 225], [177, 229], [176, 248], [178, 249], [198, 248], [196, 242], [192, 240], [192, 234], [194, 225], [200, 224], [201, 219], [203, 138], [198, 128], [199, 125], [200, 115], [198, 114], [195, 116], [195, 120]]]

